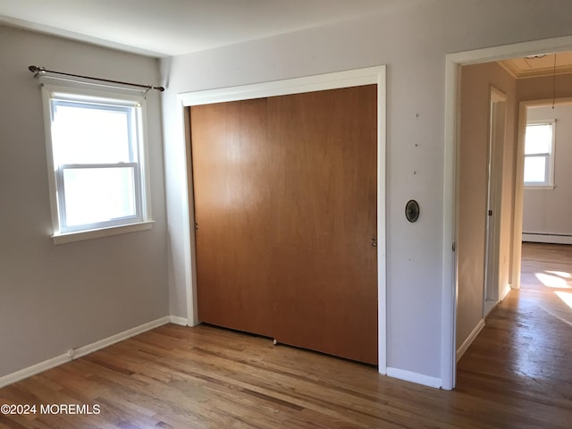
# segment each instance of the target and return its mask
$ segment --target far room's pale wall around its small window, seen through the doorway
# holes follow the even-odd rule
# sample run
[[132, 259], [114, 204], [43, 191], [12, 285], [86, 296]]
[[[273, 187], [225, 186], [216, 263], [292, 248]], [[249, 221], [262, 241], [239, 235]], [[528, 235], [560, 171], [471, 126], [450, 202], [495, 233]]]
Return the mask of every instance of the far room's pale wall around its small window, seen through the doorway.
[[523, 236], [527, 241], [572, 243], [572, 105], [528, 109], [528, 121], [545, 119], [557, 121], [555, 188], [525, 189]]

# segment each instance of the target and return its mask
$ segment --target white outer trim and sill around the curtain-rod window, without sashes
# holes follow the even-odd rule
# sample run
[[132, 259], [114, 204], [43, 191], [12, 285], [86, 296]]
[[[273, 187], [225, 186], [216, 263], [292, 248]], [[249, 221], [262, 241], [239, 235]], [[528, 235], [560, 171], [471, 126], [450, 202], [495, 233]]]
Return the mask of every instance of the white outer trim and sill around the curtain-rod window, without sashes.
[[[52, 215], [52, 231], [50, 236], [54, 240], [54, 244], [64, 244], [73, 241], [91, 240], [100, 237], [113, 236], [123, 233], [130, 233], [135, 231], [146, 231], [153, 227], [151, 213], [151, 184], [148, 172], [148, 149], [147, 149], [147, 97], [144, 95], [133, 95], [132, 90], [122, 91], [121, 88], [109, 90], [94, 90], [86, 88], [80, 84], [70, 85], [53, 85], [49, 83], [41, 83], [42, 88], [42, 104], [44, 110], [44, 130], [46, 141], [46, 161], [47, 161], [47, 181], [50, 194], [50, 211]], [[142, 141], [139, 143], [139, 186], [140, 189], [140, 205], [141, 205], [141, 219], [134, 223], [124, 223], [122, 225], [110, 225], [101, 228], [68, 231], [62, 232], [60, 229], [60, 218], [58, 212], [58, 195], [57, 195], [57, 174], [54, 165], [54, 153], [52, 150], [52, 113], [50, 98], [52, 94], [65, 94], [69, 95], [71, 99], [85, 99], [87, 97], [95, 97], [98, 100], [108, 99], [114, 103], [121, 102], [136, 102], [139, 103], [141, 109], [142, 123], [140, 126], [140, 133]]]

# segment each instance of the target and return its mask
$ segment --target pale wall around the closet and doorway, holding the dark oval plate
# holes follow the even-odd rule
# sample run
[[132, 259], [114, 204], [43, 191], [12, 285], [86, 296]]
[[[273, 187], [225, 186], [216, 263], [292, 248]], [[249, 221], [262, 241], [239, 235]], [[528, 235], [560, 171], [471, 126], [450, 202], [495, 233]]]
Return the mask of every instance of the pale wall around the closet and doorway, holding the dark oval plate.
[[[571, 34], [570, 13], [567, 0], [435, 0], [163, 60], [172, 314], [187, 315], [188, 287], [177, 94], [388, 64], [388, 365], [440, 379], [445, 55]], [[404, 216], [410, 198], [417, 223]]]

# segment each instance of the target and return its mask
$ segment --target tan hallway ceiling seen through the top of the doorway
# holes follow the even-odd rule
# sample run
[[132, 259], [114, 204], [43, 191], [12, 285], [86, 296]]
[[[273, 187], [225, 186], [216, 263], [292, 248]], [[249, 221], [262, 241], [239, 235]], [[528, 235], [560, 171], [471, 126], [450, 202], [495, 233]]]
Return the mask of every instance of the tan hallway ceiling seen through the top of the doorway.
[[536, 78], [572, 73], [572, 52], [530, 55], [499, 62], [515, 78]]

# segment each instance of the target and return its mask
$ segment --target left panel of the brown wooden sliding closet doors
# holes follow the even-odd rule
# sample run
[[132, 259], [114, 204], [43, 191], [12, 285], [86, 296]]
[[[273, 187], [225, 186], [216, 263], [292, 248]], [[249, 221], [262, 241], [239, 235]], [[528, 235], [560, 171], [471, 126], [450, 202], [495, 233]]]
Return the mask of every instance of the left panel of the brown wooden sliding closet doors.
[[273, 336], [266, 100], [190, 109], [198, 318]]

